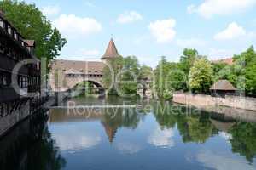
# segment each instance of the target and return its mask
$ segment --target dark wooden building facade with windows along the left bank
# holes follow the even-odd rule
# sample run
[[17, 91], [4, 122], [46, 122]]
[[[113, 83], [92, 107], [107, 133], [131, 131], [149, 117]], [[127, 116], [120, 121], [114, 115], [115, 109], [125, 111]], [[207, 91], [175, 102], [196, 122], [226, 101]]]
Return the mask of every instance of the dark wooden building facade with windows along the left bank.
[[[9, 23], [0, 11], [0, 117], [20, 108], [33, 97], [28, 93], [40, 95], [40, 61], [34, 56], [35, 42], [24, 37]], [[15, 65], [30, 59], [32, 63], [22, 65], [14, 75]], [[12, 77], [20, 88], [17, 93]]]

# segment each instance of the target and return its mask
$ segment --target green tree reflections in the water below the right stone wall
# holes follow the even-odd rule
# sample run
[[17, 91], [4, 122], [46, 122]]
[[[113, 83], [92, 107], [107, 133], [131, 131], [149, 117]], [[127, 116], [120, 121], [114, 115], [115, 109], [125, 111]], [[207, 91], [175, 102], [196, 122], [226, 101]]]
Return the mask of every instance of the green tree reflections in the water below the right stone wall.
[[[172, 109], [160, 110], [164, 108], [166, 103], [158, 103], [154, 105], [154, 116], [161, 128], [173, 128], [177, 125], [177, 129], [182, 136], [183, 143], [195, 142], [205, 143], [207, 140], [219, 133], [225, 131], [230, 133], [231, 138], [228, 139], [231, 144], [233, 153], [239, 153], [245, 156], [247, 161], [253, 162], [256, 157], [256, 123], [255, 122], [240, 122], [239, 120], [232, 120], [226, 122], [222, 117], [216, 120], [215, 113], [208, 112], [182, 112], [176, 114]], [[212, 124], [212, 122], [218, 122]], [[231, 126], [230, 126], [231, 125]]]

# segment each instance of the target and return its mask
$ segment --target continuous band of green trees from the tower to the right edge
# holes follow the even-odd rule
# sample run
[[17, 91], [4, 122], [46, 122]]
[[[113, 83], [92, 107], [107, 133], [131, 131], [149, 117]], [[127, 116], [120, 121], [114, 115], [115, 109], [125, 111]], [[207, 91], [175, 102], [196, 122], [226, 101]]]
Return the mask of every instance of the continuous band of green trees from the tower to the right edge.
[[[229, 80], [247, 96], [256, 96], [256, 53], [253, 47], [234, 56], [234, 64], [210, 62], [207, 57], [198, 54], [196, 49], [185, 48], [178, 63], [168, 62], [162, 57], [154, 70], [138, 64], [137, 58], [129, 56], [108, 60], [113, 68], [113, 75], [106, 67], [103, 82], [113, 88], [109, 94], [136, 96], [137, 89], [153, 89], [159, 99], [172, 99], [175, 91], [194, 94], [209, 94], [214, 82], [219, 79]], [[149, 81], [149, 83], [148, 83]]]

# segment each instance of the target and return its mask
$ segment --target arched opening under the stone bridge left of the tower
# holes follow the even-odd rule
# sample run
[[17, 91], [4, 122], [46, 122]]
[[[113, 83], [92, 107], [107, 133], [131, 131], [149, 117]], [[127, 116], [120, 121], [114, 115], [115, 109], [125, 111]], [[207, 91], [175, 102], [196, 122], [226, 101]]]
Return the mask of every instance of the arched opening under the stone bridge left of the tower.
[[99, 97], [105, 96], [105, 89], [99, 82], [87, 80], [76, 83], [68, 92], [74, 97], [78, 95], [97, 94]]

